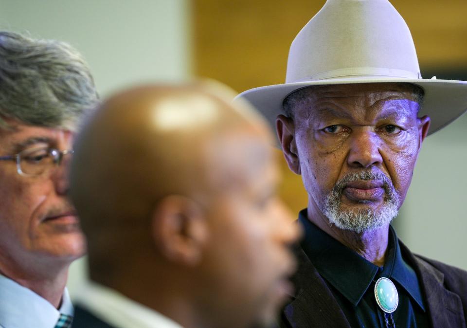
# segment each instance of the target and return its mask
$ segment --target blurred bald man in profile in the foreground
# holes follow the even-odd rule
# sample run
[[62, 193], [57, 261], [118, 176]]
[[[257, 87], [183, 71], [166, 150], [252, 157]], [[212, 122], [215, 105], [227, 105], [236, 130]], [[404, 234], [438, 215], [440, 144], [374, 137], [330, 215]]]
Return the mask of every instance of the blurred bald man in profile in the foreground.
[[124, 91], [78, 137], [72, 200], [92, 283], [73, 327], [242, 328], [275, 318], [291, 292], [288, 246], [299, 231], [275, 193], [266, 123], [222, 93], [205, 84]]

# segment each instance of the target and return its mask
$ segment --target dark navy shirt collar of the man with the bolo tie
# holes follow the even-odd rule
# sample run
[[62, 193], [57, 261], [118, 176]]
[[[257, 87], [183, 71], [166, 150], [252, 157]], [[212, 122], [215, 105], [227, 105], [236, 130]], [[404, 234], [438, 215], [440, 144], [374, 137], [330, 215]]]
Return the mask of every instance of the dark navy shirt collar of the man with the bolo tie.
[[[397, 281], [425, 310], [418, 279], [413, 269], [400, 253], [394, 229], [390, 226], [388, 254], [385, 266], [378, 266], [326, 234], [307, 218], [306, 209], [299, 214], [305, 228], [302, 248], [318, 272], [350, 303], [357, 306], [376, 276], [385, 276]], [[379, 272], [379, 274], [378, 274]]]

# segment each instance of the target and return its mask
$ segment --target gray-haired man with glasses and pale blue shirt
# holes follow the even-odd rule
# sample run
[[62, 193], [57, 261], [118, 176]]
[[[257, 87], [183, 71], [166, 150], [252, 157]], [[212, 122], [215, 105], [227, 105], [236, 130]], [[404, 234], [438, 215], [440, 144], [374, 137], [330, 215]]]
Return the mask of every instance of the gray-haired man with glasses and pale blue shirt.
[[0, 327], [68, 327], [68, 267], [85, 251], [68, 200], [73, 129], [97, 103], [69, 45], [0, 32]]

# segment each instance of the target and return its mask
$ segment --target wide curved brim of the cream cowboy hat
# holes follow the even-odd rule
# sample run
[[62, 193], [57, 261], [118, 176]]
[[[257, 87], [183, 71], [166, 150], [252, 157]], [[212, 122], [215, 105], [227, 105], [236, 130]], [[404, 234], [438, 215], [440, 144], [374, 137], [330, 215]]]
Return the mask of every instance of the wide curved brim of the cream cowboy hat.
[[276, 84], [250, 89], [235, 99], [248, 100], [266, 116], [275, 130], [276, 117], [283, 114], [284, 99], [293, 91], [308, 86], [357, 83], [413, 83], [423, 88], [425, 97], [419, 116], [428, 115], [432, 134], [453, 122], [467, 110], [467, 81], [401, 78], [347, 78]]

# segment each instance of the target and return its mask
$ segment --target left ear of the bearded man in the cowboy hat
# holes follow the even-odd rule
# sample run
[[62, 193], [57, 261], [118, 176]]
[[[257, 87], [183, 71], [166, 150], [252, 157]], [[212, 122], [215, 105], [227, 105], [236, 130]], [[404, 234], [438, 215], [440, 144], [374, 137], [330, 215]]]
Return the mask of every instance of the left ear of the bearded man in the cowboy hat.
[[278, 115], [276, 131], [288, 168], [295, 174], [302, 174], [297, 145], [295, 143], [295, 125], [290, 117]]

